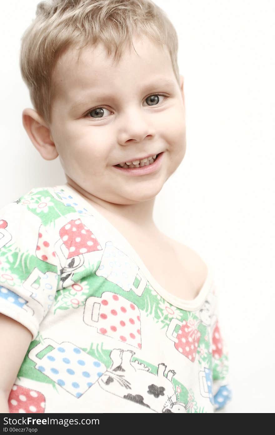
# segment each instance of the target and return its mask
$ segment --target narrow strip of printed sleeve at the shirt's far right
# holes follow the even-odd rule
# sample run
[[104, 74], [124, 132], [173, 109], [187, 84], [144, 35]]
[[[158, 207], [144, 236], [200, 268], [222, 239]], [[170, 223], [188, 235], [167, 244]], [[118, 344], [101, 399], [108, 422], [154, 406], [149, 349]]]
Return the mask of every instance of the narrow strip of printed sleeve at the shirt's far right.
[[229, 378], [229, 350], [227, 339], [221, 331], [219, 317], [219, 298], [214, 288], [214, 308], [211, 322], [212, 345], [212, 391], [214, 412], [226, 412], [226, 405], [232, 400]]

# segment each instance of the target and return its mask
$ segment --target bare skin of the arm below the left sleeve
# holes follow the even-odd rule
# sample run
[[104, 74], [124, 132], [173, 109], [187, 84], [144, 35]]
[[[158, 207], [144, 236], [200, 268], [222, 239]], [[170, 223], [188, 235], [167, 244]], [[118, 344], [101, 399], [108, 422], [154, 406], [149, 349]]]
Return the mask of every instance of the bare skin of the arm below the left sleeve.
[[32, 340], [31, 332], [0, 314], [0, 413], [8, 413], [8, 398]]

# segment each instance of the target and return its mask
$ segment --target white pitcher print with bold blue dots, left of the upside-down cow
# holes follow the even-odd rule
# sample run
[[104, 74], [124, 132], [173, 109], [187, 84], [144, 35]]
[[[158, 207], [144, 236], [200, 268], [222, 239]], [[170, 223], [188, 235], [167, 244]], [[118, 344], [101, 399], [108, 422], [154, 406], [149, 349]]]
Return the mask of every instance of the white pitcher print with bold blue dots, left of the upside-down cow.
[[35, 368], [76, 398], [85, 393], [106, 371], [105, 365], [73, 343], [45, 338], [29, 352]]

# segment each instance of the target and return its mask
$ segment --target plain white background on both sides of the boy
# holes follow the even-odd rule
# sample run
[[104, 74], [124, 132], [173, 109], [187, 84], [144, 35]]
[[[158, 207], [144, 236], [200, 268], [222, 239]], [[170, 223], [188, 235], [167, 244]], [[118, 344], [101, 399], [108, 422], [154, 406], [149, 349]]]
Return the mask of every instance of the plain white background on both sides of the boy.
[[[65, 182], [22, 126], [20, 38], [36, 0], [1, 4], [0, 207]], [[231, 413], [274, 412], [275, 2], [157, 0], [179, 36], [186, 156], [154, 218], [212, 264], [230, 352]]]

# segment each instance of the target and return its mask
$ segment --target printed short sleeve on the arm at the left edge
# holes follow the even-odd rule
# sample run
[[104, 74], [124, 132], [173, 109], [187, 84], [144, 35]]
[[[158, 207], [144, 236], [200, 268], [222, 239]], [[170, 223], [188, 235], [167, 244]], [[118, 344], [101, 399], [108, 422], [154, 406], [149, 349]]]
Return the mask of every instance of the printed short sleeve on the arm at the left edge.
[[31, 204], [26, 195], [0, 210], [0, 312], [34, 339], [54, 301], [58, 274], [51, 231], [40, 218], [45, 213]]

